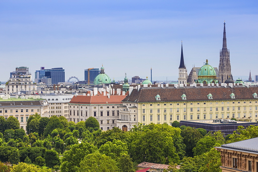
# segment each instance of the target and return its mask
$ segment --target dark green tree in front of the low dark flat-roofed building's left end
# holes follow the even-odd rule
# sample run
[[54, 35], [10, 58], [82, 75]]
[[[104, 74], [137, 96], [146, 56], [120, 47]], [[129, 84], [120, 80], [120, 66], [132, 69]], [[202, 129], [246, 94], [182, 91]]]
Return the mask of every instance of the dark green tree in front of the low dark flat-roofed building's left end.
[[186, 145], [187, 156], [193, 157], [192, 149], [196, 147], [197, 142], [202, 138], [201, 133], [196, 128], [186, 127], [186, 129], [182, 130], [181, 136]]

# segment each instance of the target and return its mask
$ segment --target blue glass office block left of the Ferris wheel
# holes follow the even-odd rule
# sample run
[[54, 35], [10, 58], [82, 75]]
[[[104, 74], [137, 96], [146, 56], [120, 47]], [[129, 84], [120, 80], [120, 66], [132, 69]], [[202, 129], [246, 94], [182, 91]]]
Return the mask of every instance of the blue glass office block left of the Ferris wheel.
[[62, 67], [45, 69], [41, 67], [41, 70], [35, 72], [35, 82], [39, 83], [43, 77], [50, 79], [52, 84], [58, 84], [58, 82], [65, 82], [65, 70]]

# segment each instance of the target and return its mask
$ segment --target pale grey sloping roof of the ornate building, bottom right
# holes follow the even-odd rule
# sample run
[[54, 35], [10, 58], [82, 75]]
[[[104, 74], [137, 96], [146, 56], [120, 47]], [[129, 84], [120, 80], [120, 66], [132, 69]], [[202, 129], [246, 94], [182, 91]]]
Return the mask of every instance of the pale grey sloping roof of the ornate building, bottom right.
[[258, 137], [221, 145], [221, 148], [258, 152]]

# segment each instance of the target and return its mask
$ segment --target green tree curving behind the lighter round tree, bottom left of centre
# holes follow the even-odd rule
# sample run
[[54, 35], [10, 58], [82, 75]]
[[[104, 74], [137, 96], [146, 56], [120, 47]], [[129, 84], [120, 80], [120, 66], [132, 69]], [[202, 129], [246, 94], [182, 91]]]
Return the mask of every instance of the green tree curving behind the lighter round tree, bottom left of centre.
[[77, 171], [80, 161], [82, 161], [87, 154], [97, 151], [97, 147], [90, 143], [82, 142], [80, 144], [72, 145], [70, 150], [63, 153], [60, 166], [61, 171]]

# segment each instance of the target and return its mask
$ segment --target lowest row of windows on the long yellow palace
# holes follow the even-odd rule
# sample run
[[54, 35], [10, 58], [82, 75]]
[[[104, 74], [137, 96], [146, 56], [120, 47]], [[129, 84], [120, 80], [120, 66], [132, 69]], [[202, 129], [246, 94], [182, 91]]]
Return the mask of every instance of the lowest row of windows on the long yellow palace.
[[[210, 114], [210, 119], [213, 119], [213, 114]], [[164, 117], [164, 121], [167, 121], [167, 115], [163, 115]], [[170, 115], [170, 121], [173, 121], [173, 115]], [[227, 118], [235, 118], [235, 113], [232, 113], [232, 116], [230, 116], [230, 114], [227, 114], [227, 116], [225, 116]], [[238, 118], [240, 118], [241, 115], [240, 113], [238, 113]], [[252, 117], [252, 113], [249, 113], [249, 117]], [[257, 118], [258, 115], [257, 113], [255, 113], [255, 117]], [[219, 114], [216, 114], [215, 118], [219, 118]], [[221, 118], [224, 118], [224, 114], [221, 114]], [[246, 113], [244, 113], [243, 118], [246, 118]], [[183, 116], [183, 119], [186, 120], [186, 115]], [[190, 115], [190, 119], [193, 119], [193, 115]], [[200, 114], [197, 114], [197, 119], [200, 119]], [[203, 119], [206, 119], [206, 114], [203, 114]], [[176, 120], [179, 120], [179, 115], [176, 116]], [[145, 121], [145, 115], [142, 115], [142, 121]], [[153, 121], [153, 115], [150, 115], [150, 121]], [[160, 121], [160, 115], [157, 115], [157, 121]], [[256, 119], [257, 121], [257, 119]], [[250, 121], [252, 122], [252, 121]]]

